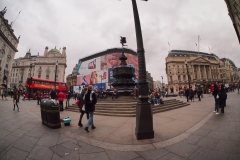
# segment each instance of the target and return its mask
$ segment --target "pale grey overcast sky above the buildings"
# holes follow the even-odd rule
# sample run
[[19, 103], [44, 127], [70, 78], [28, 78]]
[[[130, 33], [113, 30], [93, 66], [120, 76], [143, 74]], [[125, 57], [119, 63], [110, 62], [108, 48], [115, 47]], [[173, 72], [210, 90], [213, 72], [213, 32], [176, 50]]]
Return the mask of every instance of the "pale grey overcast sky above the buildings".
[[[137, 0], [146, 67], [153, 80], [166, 80], [165, 58], [170, 49], [197, 50], [231, 59], [240, 67], [240, 46], [224, 0]], [[18, 53], [43, 55], [49, 49], [67, 48], [66, 75], [78, 59], [109, 48], [121, 47], [120, 36], [136, 51], [131, 0], [0, 0], [5, 18], [14, 21], [21, 35]]]

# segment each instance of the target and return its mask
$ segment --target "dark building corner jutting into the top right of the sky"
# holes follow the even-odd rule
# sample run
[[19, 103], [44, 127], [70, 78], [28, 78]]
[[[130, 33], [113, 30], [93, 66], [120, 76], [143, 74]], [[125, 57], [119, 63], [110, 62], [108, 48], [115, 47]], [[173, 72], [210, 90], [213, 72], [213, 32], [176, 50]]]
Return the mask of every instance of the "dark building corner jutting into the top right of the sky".
[[240, 42], [240, 1], [239, 0], [225, 0], [228, 8], [228, 15], [230, 16], [233, 27], [236, 31], [238, 41]]

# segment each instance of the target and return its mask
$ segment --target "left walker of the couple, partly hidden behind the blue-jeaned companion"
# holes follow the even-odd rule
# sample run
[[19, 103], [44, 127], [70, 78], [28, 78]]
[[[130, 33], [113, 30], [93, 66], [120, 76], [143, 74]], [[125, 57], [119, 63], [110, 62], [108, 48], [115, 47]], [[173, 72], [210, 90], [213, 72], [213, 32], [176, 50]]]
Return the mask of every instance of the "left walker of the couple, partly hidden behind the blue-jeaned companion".
[[79, 121], [78, 121], [78, 126], [79, 127], [82, 127], [83, 124], [82, 124], [82, 118], [84, 116], [84, 114], [86, 113], [87, 115], [87, 120], [89, 119], [89, 113], [86, 111], [86, 109], [83, 108], [83, 106], [85, 105], [85, 95], [87, 93], [87, 87], [85, 87], [81, 94], [78, 96], [78, 100], [80, 101], [80, 104], [79, 104], [79, 111], [80, 111], [80, 117], [79, 117]]

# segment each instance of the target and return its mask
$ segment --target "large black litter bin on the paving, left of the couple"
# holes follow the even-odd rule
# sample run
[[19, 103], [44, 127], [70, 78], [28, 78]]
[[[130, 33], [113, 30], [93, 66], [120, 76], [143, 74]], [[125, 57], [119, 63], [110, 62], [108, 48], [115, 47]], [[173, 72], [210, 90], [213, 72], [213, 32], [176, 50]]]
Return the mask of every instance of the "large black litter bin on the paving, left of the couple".
[[51, 129], [61, 128], [59, 105], [50, 99], [41, 101], [42, 122]]

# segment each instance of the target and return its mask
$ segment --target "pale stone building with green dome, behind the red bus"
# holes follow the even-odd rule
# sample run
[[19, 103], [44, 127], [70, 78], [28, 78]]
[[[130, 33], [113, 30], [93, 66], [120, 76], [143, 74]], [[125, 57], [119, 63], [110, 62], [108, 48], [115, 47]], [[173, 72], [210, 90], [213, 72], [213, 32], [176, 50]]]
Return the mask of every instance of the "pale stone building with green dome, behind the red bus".
[[10, 86], [25, 86], [27, 77], [55, 80], [55, 71], [57, 65], [56, 80], [64, 82], [66, 64], [66, 47], [63, 47], [62, 53], [56, 47], [48, 51], [45, 48], [42, 56], [32, 55], [30, 50], [24, 57], [14, 59]]

